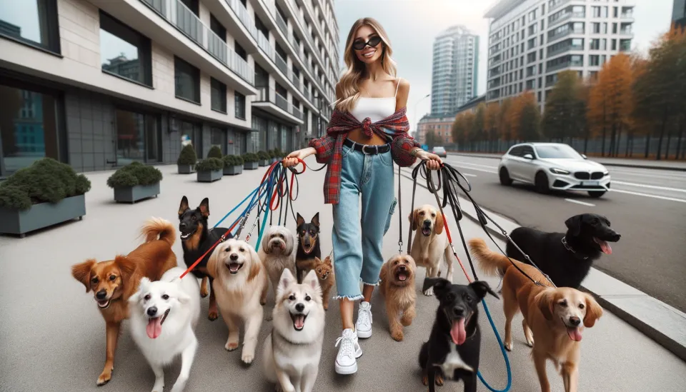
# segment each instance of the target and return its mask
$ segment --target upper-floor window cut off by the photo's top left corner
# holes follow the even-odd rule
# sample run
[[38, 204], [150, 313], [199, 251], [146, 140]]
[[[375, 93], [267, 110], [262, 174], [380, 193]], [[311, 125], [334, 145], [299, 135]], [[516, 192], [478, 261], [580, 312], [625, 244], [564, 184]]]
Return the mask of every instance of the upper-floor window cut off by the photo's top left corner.
[[0, 36], [59, 53], [56, 0], [0, 1]]

